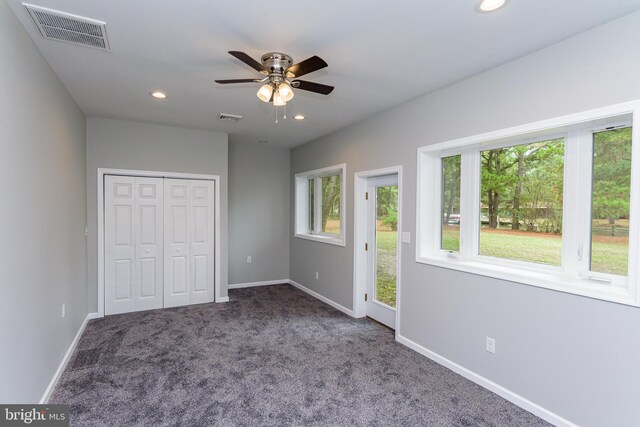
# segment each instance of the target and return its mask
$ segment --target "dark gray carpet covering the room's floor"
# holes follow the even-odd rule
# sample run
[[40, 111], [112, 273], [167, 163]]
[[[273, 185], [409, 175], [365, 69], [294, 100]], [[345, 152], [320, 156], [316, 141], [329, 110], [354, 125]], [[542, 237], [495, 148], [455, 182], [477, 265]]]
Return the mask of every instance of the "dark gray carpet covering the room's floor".
[[73, 426], [539, 426], [534, 415], [289, 286], [93, 320], [52, 403]]

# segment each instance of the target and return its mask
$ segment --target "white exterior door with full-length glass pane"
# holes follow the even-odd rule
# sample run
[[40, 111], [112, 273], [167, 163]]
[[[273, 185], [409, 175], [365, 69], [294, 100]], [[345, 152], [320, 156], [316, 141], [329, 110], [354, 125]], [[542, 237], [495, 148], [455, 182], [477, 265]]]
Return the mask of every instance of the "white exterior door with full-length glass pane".
[[369, 178], [367, 202], [367, 316], [395, 329], [398, 176]]

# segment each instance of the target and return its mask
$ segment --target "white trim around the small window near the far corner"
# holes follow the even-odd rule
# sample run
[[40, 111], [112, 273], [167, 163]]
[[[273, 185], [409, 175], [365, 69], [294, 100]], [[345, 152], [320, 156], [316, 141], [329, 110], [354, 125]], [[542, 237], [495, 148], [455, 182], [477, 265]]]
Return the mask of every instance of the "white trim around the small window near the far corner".
[[[330, 233], [312, 233], [309, 230], [309, 190], [308, 190], [308, 180], [310, 178], [314, 178], [316, 180], [321, 179], [322, 177], [329, 175], [340, 175], [340, 235], [336, 236], [335, 234]], [[301, 172], [296, 174], [295, 176], [295, 237], [306, 240], [313, 240], [321, 243], [328, 243], [336, 246], [345, 246], [346, 242], [346, 227], [345, 227], [345, 218], [346, 218], [346, 188], [345, 188], [345, 179], [347, 175], [347, 165], [346, 163], [341, 163], [335, 166], [328, 166], [325, 168], [314, 169], [312, 171]], [[316, 193], [318, 192], [318, 188], [322, 188], [321, 185], [316, 185]], [[315, 224], [320, 224], [321, 222], [321, 200], [322, 195], [317, 194], [315, 198]]]

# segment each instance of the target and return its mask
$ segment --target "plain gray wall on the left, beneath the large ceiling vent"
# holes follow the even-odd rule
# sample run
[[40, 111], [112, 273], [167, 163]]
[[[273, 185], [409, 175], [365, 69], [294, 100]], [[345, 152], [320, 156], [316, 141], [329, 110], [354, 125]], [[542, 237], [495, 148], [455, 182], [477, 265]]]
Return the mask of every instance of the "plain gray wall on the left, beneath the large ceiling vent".
[[4, 1], [0, 58], [0, 402], [35, 403], [87, 316], [84, 115]]

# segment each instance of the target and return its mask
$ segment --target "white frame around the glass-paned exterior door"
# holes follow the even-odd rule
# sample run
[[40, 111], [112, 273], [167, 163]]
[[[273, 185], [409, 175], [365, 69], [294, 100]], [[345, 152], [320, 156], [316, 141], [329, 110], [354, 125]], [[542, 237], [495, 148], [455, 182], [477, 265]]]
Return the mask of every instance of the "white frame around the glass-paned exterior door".
[[364, 317], [367, 308], [364, 294], [367, 292], [367, 252], [364, 245], [367, 243], [367, 182], [369, 178], [384, 175], [398, 175], [398, 256], [396, 259], [396, 338], [400, 331], [400, 307], [401, 307], [401, 254], [402, 254], [402, 166], [374, 169], [356, 172], [354, 175], [354, 209], [353, 209], [353, 313], [354, 317]]

